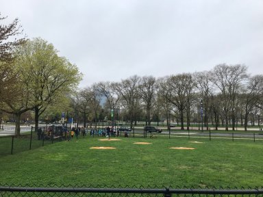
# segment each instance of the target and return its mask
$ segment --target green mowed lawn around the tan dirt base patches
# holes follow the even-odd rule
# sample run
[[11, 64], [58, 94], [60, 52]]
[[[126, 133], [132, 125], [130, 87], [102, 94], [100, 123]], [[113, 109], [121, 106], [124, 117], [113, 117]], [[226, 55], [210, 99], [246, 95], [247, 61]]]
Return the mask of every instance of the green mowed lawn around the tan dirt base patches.
[[[105, 141], [101, 141], [101, 139]], [[79, 137], [0, 158], [1, 185], [262, 187], [263, 141]], [[148, 142], [150, 144], [134, 144]], [[201, 143], [197, 143], [201, 142]], [[116, 149], [90, 149], [113, 147]], [[177, 150], [171, 147], [195, 148]]]

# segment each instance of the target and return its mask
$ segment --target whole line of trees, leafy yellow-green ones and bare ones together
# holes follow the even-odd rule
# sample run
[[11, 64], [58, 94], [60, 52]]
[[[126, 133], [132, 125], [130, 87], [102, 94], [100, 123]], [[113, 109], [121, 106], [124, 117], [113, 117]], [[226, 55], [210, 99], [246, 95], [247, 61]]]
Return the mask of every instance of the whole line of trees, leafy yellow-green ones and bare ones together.
[[[0, 15], [0, 21], [4, 19]], [[18, 39], [22, 33], [17, 19], [0, 24], [0, 111], [14, 114], [17, 135], [21, 114], [32, 110], [36, 128], [41, 114], [55, 109], [68, 111], [85, 127], [87, 121], [120, 117], [130, 127], [141, 120], [151, 124], [172, 117], [181, 129], [202, 120], [206, 129], [212, 122], [216, 129], [225, 125], [227, 131], [235, 129], [237, 122], [247, 130], [249, 117], [257, 116], [260, 122], [263, 77], [249, 76], [247, 66], [219, 64], [200, 73], [158, 79], [135, 75], [121, 82], [95, 83], [72, 94], [82, 80], [77, 66], [41, 38]]]

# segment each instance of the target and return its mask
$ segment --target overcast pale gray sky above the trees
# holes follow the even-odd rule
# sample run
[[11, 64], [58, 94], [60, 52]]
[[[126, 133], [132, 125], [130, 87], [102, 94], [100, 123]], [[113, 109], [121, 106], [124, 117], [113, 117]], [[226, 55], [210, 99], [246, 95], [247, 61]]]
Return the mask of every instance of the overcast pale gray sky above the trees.
[[223, 63], [263, 74], [262, 0], [0, 0], [0, 12], [76, 64], [81, 87]]

